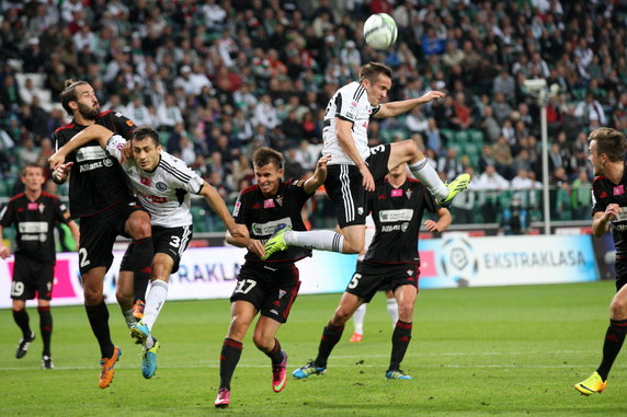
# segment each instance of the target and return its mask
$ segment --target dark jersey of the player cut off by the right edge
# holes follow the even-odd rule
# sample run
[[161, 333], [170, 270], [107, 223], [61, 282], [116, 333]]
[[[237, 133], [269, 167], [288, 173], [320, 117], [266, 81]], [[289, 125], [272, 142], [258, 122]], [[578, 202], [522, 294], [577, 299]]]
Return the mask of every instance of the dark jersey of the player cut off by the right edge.
[[613, 184], [604, 176], [592, 182], [592, 216], [605, 211], [611, 204], [620, 206], [620, 213], [612, 219], [612, 236], [616, 246], [616, 256], [627, 257], [627, 166], [619, 184]]

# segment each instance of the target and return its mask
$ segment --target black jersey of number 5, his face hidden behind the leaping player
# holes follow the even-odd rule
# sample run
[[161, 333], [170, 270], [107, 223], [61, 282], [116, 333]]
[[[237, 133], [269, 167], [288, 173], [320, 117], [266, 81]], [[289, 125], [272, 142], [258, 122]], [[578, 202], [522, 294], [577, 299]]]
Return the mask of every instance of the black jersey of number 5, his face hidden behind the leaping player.
[[364, 262], [417, 264], [418, 234], [424, 210], [435, 212], [435, 199], [420, 182], [408, 178], [399, 188], [386, 179], [368, 197], [375, 221], [375, 236]]

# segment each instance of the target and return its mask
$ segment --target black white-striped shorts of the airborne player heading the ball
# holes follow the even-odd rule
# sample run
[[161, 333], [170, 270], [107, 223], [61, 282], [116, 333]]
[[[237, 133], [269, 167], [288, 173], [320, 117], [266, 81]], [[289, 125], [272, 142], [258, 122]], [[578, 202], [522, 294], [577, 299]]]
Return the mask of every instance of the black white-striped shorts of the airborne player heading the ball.
[[[371, 148], [371, 155], [366, 160], [368, 170], [376, 182], [380, 182], [389, 172], [390, 144], [379, 144]], [[354, 224], [366, 224], [367, 196], [362, 174], [355, 165], [329, 165], [324, 188], [335, 209], [335, 217], [340, 228]]]

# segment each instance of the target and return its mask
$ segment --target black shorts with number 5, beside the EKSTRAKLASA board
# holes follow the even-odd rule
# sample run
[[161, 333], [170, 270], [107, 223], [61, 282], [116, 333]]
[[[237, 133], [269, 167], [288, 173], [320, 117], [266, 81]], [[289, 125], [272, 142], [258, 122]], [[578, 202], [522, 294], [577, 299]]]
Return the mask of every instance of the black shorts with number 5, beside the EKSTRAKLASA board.
[[418, 264], [386, 265], [358, 260], [346, 292], [369, 302], [379, 290], [394, 291], [400, 286], [418, 288], [419, 276]]

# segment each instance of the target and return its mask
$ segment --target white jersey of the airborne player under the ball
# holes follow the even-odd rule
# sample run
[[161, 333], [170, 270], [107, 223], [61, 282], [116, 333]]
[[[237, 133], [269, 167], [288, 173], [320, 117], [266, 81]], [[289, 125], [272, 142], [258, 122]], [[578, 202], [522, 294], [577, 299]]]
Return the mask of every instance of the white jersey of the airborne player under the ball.
[[329, 165], [355, 165], [355, 162], [344, 152], [338, 140], [335, 118], [339, 117], [353, 123], [352, 135], [355, 140], [355, 147], [365, 161], [371, 154], [367, 137], [368, 121], [379, 108], [380, 105], [376, 107], [372, 106], [366, 89], [356, 81], [342, 86], [335, 92], [329, 101], [329, 104], [327, 104], [322, 129], [322, 139], [324, 141], [322, 154], [330, 154], [332, 157], [331, 161], [329, 161]]

